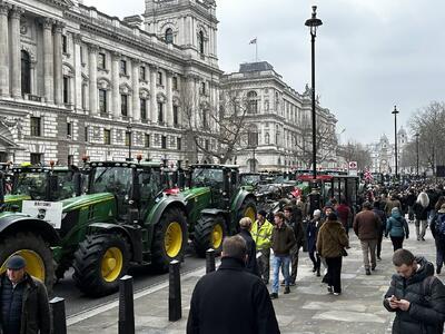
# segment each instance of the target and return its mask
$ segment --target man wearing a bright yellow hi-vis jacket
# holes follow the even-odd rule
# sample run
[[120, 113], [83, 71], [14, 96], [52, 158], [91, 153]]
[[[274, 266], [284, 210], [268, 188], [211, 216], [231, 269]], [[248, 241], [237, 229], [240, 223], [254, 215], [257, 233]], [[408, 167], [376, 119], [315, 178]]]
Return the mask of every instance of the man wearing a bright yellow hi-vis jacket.
[[251, 226], [251, 237], [257, 247], [257, 262], [260, 276], [265, 284], [269, 284], [270, 272], [270, 239], [274, 225], [266, 219], [267, 213], [259, 210], [257, 220]]

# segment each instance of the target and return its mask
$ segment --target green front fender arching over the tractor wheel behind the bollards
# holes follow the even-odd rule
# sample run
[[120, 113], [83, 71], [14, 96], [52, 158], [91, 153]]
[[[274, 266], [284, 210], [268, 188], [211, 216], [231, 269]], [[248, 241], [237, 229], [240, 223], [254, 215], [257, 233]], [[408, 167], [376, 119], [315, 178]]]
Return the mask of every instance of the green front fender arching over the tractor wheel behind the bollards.
[[110, 223], [93, 223], [88, 226], [87, 234], [113, 234], [122, 235], [129, 243], [130, 261], [142, 263], [142, 232], [138, 225], [118, 225]]

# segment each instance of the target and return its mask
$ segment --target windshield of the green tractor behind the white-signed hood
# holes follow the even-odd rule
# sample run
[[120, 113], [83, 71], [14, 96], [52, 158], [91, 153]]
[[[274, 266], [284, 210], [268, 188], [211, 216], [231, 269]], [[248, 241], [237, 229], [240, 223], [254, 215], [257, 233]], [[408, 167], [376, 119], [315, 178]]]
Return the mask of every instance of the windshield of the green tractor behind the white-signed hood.
[[130, 191], [132, 168], [128, 167], [96, 167], [92, 174], [89, 193], [112, 193], [127, 195]]

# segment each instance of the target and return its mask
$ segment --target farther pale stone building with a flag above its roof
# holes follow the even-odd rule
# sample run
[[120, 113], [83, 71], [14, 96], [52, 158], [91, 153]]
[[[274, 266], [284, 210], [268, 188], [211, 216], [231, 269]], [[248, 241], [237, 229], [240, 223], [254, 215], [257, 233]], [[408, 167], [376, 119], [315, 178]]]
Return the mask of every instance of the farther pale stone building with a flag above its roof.
[[[241, 63], [224, 75], [221, 92], [238, 90], [246, 101], [248, 143], [237, 155], [244, 170], [291, 170], [312, 163], [312, 98], [289, 87], [267, 61]], [[336, 117], [316, 101], [318, 167], [335, 168]]]

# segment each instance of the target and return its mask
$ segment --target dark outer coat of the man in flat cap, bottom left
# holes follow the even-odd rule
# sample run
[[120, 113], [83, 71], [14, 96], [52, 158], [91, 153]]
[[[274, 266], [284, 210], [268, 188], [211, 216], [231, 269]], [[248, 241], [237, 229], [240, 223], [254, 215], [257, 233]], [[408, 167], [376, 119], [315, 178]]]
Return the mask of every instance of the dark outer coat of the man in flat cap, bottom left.
[[[0, 276], [0, 293], [3, 288], [6, 274]], [[22, 295], [22, 314], [20, 334], [49, 334], [51, 332], [48, 294], [44, 285], [37, 278], [26, 274]], [[1, 315], [0, 315], [1, 317]], [[2, 333], [0, 318], [0, 334]]]

